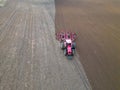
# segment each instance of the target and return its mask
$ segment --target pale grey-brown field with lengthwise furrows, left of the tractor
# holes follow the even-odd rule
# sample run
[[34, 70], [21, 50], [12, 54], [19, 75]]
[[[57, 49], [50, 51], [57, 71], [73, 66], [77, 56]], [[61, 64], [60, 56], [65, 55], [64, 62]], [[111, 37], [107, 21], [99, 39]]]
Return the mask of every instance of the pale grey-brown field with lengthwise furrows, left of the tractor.
[[76, 54], [55, 40], [54, 0], [9, 0], [0, 8], [0, 90], [91, 90]]

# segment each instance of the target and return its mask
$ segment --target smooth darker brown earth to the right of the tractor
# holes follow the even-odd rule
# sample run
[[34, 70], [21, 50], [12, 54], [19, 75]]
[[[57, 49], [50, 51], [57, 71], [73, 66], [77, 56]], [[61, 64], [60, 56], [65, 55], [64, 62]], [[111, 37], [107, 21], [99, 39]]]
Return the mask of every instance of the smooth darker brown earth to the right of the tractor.
[[76, 32], [93, 90], [120, 90], [120, 1], [55, 0], [56, 31]]

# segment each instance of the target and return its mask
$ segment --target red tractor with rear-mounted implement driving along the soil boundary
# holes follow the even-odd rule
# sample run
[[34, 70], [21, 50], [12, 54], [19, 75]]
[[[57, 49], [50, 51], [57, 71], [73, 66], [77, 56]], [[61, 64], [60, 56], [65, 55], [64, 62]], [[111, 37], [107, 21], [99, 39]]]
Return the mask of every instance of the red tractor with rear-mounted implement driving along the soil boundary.
[[63, 50], [65, 56], [68, 58], [74, 56], [76, 47], [76, 33], [59, 32], [56, 33], [56, 39], [60, 41], [60, 47]]

